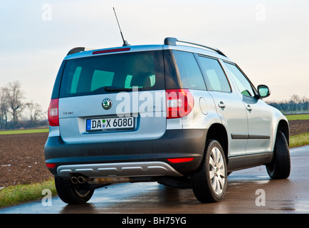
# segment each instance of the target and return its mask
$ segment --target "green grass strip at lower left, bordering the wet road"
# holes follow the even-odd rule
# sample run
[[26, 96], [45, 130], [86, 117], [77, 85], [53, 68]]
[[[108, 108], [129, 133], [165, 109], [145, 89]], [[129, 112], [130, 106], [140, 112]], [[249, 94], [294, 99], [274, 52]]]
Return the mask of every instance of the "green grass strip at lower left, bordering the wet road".
[[57, 195], [53, 178], [41, 183], [4, 187], [0, 190], [0, 208], [30, 200], [43, 199], [42, 191], [51, 190], [52, 196]]

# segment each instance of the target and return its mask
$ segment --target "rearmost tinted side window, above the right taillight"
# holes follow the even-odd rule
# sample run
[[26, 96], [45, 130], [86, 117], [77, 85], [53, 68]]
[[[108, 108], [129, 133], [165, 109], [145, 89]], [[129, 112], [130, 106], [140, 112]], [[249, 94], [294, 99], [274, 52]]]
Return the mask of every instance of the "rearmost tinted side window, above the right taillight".
[[206, 90], [201, 70], [193, 53], [173, 51], [181, 78], [182, 88]]

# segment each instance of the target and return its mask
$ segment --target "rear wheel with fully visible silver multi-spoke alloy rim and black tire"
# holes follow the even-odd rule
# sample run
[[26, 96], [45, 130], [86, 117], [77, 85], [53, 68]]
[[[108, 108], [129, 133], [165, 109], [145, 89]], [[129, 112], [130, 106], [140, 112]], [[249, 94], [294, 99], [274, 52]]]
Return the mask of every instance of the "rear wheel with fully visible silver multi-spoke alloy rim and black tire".
[[227, 187], [227, 168], [224, 150], [216, 140], [206, 143], [201, 167], [190, 177], [192, 190], [200, 202], [219, 202]]

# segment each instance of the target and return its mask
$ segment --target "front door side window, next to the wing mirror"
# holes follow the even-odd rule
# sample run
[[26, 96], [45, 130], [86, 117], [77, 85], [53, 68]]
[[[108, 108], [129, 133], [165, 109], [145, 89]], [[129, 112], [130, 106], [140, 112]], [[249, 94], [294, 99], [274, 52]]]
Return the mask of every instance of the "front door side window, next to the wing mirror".
[[239, 71], [239, 68], [231, 63], [225, 63], [226, 68], [228, 68], [229, 73], [233, 77], [237, 88], [239, 89], [239, 92], [241, 92], [242, 95], [246, 96], [254, 96], [253, 89], [251, 87], [251, 83], [247, 80], [245, 76], [243, 76], [243, 73]]

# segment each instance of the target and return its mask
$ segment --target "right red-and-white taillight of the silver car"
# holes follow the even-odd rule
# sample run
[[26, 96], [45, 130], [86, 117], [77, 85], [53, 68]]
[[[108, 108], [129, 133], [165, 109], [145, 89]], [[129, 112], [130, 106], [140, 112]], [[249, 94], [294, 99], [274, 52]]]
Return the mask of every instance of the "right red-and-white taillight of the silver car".
[[167, 98], [167, 119], [182, 118], [191, 113], [194, 98], [188, 89], [165, 90]]

